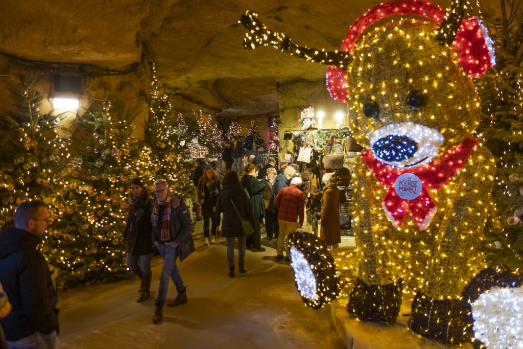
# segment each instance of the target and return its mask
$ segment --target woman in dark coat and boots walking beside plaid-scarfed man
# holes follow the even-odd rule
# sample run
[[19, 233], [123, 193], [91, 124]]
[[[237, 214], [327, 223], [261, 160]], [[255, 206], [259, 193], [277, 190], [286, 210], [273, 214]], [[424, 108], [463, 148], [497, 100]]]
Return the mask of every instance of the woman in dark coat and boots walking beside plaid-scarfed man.
[[[151, 209], [153, 200], [149, 196], [149, 191], [144, 189], [140, 178], [134, 178], [131, 181], [128, 202], [129, 215], [121, 242], [127, 246], [127, 267], [138, 275], [141, 281], [138, 291], [142, 294], [137, 302], [143, 302], [151, 297], [151, 259], [153, 258]], [[140, 267], [138, 262], [140, 262]]]

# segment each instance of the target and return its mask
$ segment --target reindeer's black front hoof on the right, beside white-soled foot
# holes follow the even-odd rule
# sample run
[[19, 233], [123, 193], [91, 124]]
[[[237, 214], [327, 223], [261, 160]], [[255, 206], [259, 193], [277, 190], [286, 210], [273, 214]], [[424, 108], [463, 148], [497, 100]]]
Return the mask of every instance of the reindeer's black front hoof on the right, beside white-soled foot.
[[434, 299], [418, 291], [412, 301], [408, 320], [411, 331], [441, 343], [457, 344], [466, 341], [461, 313], [462, 299]]

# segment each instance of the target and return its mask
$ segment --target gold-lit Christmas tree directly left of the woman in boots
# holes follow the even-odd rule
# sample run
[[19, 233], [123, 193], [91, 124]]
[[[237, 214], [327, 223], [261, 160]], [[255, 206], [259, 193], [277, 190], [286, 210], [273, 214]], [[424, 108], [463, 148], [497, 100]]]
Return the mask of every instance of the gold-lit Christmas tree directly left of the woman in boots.
[[81, 118], [89, 134], [82, 138], [70, 168], [69, 190], [61, 214], [48, 230], [49, 263], [58, 269], [56, 286], [110, 281], [127, 277], [120, 237], [126, 226], [129, 182], [137, 175], [132, 120], [101, 112]]

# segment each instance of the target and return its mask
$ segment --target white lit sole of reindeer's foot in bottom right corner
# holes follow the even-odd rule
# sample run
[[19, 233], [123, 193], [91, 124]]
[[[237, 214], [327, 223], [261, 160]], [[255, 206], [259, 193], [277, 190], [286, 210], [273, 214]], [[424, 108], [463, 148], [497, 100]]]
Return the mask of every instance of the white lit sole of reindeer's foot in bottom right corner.
[[471, 307], [476, 340], [491, 349], [523, 348], [523, 288], [493, 287]]

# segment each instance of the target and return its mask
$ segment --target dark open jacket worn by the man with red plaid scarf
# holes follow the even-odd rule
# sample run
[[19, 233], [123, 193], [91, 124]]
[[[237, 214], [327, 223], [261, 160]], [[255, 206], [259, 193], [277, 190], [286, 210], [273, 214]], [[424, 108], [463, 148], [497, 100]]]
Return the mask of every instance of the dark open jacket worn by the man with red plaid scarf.
[[[173, 195], [171, 199], [172, 209], [170, 210], [169, 220], [169, 235], [170, 241], [176, 241], [178, 246], [178, 256], [180, 262], [185, 260], [192, 252], [195, 252], [195, 242], [192, 240], [192, 220], [187, 205], [184, 200], [178, 196]], [[153, 222], [152, 243], [160, 242], [162, 227], [157, 226], [157, 222]]]

